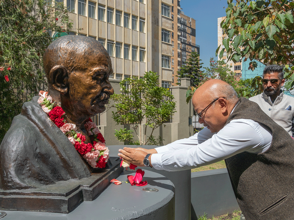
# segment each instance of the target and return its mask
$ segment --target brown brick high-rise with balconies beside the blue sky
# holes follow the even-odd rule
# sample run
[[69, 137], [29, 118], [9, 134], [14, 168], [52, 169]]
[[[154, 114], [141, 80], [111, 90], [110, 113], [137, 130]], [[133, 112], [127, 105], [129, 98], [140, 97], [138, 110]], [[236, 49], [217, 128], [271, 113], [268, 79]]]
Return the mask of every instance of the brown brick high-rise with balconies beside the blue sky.
[[173, 6], [171, 7], [172, 22], [172, 44], [173, 52], [171, 57], [171, 68], [173, 70], [173, 81], [171, 85], [176, 86], [179, 82], [177, 77], [177, 71], [180, 70], [191, 52], [200, 53], [200, 46], [195, 44], [196, 21], [193, 18], [186, 16], [181, 11], [180, 0], [173, 0]]

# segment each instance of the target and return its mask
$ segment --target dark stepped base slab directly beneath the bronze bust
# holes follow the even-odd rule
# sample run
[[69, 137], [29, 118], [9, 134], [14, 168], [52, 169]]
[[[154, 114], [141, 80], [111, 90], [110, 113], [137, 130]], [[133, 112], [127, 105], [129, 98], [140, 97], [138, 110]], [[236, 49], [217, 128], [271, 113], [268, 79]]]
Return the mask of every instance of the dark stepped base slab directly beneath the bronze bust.
[[120, 159], [111, 157], [108, 167], [81, 180], [58, 181], [37, 189], [0, 190], [0, 209], [69, 213], [81, 202], [96, 199], [122, 171]]

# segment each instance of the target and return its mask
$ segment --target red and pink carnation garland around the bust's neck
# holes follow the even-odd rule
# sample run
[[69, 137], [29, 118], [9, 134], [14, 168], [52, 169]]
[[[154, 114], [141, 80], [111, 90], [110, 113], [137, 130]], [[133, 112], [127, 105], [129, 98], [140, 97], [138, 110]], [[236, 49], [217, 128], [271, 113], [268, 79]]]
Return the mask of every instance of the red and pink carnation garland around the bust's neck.
[[84, 126], [88, 132], [91, 143], [84, 143], [86, 137], [81, 133], [77, 133], [76, 125], [67, 123], [65, 120], [65, 112], [60, 106], [54, 106], [52, 97], [48, 92], [39, 92], [38, 103], [42, 109], [55, 123], [57, 127], [69, 138], [78, 153], [94, 168], [104, 168], [109, 159], [109, 150], [105, 146], [105, 140], [97, 128], [96, 124], [89, 118]]

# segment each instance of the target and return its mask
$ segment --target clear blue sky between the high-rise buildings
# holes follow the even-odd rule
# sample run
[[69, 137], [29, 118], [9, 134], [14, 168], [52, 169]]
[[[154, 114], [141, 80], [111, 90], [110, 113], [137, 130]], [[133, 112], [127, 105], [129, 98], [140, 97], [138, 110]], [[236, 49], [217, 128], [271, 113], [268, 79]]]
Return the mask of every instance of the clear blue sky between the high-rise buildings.
[[219, 17], [225, 16], [227, 0], [181, 0], [180, 4], [184, 14], [196, 20], [195, 43], [200, 45], [202, 66], [208, 67], [218, 48], [217, 23]]

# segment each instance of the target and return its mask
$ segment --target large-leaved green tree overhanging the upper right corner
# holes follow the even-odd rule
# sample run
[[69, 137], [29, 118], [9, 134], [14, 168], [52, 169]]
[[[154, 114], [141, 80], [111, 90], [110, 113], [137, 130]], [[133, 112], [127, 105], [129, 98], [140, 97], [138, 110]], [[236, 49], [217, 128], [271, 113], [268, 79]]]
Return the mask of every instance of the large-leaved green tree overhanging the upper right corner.
[[[258, 60], [266, 65], [285, 66], [287, 89], [294, 85], [294, 2], [292, 0], [228, 0], [221, 28], [227, 35], [216, 50], [226, 51], [229, 60]], [[250, 62], [253, 71], [257, 66]], [[292, 76], [292, 77], [291, 77]], [[291, 78], [290, 78], [291, 77]]]

